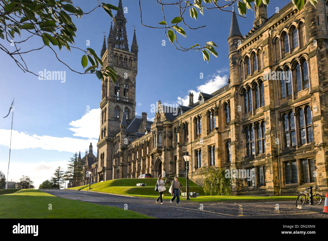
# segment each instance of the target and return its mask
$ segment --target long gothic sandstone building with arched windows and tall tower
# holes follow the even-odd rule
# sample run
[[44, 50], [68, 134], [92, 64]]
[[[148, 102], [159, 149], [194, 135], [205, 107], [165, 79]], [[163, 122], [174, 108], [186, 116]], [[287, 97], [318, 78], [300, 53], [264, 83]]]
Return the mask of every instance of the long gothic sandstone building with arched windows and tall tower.
[[189, 105], [177, 109], [159, 101], [154, 123], [146, 113], [134, 116], [138, 46], [134, 32], [129, 51], [126, 19], [117, 12], [101, 57], [119, 79], [102, 86], [94, 180], [186, 176], [188, 151], [189, 177], [198, 183], [201, 167], [237, 170], [233, 194], [327, 186], [327, 9], [325, 0], [316, 8], [307, 1], [301, 11], [290, 2], [268, 18], [261, 4], [244, 36], [233, 14], [227, 85], [195, 102], [190, 93]]

